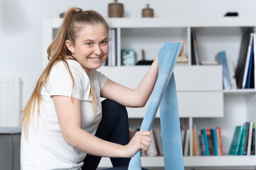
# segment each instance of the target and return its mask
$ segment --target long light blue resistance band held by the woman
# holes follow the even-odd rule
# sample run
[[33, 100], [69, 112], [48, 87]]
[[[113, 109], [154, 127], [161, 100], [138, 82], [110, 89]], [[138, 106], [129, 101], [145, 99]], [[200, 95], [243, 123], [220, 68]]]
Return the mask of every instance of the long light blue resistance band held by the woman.
[[[140, 131], [151, 130], [158, 107], [165, 170], [184, 170], [180, 117], [173, 69], [182, 44], [166, 42], [158, 52], [159, 71]], [[128, 170], [141, 170], [141, 152], [130, 160]]]

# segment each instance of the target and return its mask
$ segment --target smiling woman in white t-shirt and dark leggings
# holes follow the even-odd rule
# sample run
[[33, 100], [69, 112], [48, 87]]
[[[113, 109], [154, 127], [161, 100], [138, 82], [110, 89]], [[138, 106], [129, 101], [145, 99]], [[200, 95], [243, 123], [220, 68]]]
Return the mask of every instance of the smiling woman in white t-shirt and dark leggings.
[[[97, 159], [96, 169], [100, 157], [130, 158], [138, 150], [147, 150], [151, 141], [149, 131], [137, 132], [129, 142], [127, 135], [124, 140], [116, 135], [117, 141], [108, 141], [111, 134], [101, 137], [108, 124], [101, 122], [100, 97], [108, 99], [102, 104], [103, 110], [108, 106], [112, 110], [118, 108], [114, 114], [125, 114], [123, 106], [143, 107], [158, 73], [156, 57], [137, 88], [130, 89], [98, 72], [96, 69], [108, 56], [108, 28], [96, 11], [71, 8], [66, 12], [47, 50], [49, 64], [22, 110], [21, 169], [81, 170], [83, 159], [85, 169], [93, 169], [88, 166]], [[103, 117], [108, 118], [112, 110], [106, 110]], [[127, 118], [113, 121], [114, 129], [122, 121], [127, 122]]]

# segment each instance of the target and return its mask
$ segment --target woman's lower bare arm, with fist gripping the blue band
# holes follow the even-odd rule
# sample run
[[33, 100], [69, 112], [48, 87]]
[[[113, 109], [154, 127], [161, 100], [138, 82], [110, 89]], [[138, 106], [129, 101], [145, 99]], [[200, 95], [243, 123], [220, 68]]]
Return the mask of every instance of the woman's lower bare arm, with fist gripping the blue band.
[[132, 157], [138, 150], [145, 151], [150, 145], [150, 132], [141, 131], [126, 146], [108, 142], [81, 129], [81, 100], [53, 96], [62, 135], [70, 146], [91, 155], [101, 157]]

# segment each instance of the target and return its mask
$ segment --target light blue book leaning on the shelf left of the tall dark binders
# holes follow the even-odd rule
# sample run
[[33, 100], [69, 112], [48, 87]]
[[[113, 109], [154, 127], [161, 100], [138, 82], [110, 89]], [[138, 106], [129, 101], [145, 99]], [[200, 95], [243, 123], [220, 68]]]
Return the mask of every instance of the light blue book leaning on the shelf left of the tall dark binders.
[[222, 65], [222, 75], [223, 75], [223, 89], [230, 90], [231, 83], [229, 78], [229, 68], [227, 65], [226, 52], [221, 51], [216, 56], [217, 61]]

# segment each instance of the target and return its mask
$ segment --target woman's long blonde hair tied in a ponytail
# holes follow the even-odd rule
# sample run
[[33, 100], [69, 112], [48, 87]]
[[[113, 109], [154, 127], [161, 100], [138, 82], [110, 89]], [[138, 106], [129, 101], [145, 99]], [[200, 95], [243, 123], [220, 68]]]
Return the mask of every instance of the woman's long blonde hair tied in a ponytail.
[[[42, 100], [41, 91], [47, 80], [49, 79], [49, 74], [52, 70], [52, 67], [58, 63], [63, 62], [68, 69], [70, 77], [72, 79], [73, 88], [74, 88], [74, 78], [70, 71], [70, 68], [66, 60], [76, 60], [72, 57], [72, 53], [67, 49], [65, 44], [66, 40], [70, 40], [72, 43], [75, 43], [76, 38], [78, 37], [79, 31], [85, 25], [96, 25], [102, 24], [109, 29], [109, 25], [103, 16], [96, 11], [82, 11], [80, 8], [70, 8], [64, 15], [63, 24], [60, 26], [56, 38], [52, 41], [47, 49], [49, 63], [43, 70], [43, 73], [40, 75], [36, 87], [31, 94], [27, 104], [22, 110], [21, 123], [23, 124], [25, 137], [28, 137], [28, 128], [30, 124], [30, 119], [34, 115], [34, 109], [37, 104], [37, 113], [40, 116], [40, 102]], [[92, 85], [90, 87], [90, 96], [92, 97], [92, 105], [94, 114], [96, 112], [96, 97]], [[71, 96], [72, 97], [72, 96]], [[72, 99], [72, 98], [71, 98]]]

